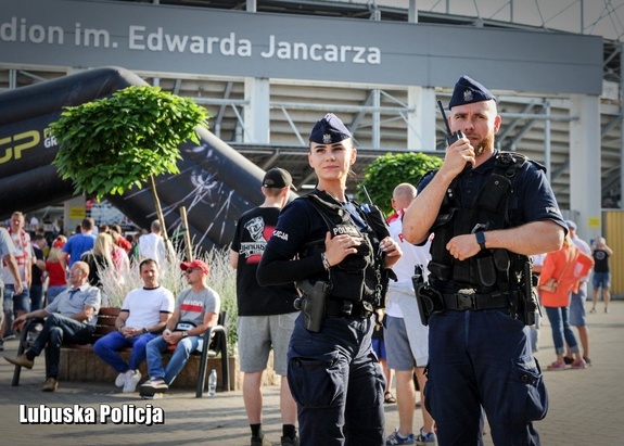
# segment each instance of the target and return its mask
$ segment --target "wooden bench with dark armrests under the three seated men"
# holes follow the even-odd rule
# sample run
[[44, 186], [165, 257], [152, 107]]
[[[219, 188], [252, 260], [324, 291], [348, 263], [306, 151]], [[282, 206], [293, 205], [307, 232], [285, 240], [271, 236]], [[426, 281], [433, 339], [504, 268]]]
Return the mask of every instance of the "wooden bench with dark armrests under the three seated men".
[[[115, 331], [115, 320], [119, 314], [119, 308], [102, 308], [98, 314], [98, 321], [95, 322], [95, 331], [92, 336], [92, 341], [90, 344], [85, 345], [74, 345], [67, 344], [61, 347], [61, 353], [66, 353], [68, 357], [72, 356], [72, 351], [74, 352], [85, 352], [89, 354], [93, 354], [93, 343], [98, 341], [100, 337]], [[217, 320], [217, 324], [207, 330], [204, 336], [204, 348], [202, 352], [193, 352], [191, 356], [195, 356], [199, 358], [199, 370], [196, 377], [196, 385], [195, 385], [195, 397], [201, 398], [204, 394], [206, 388], [206, 375], [207, 375], [207, 366], [209, 358], [217, 358], [220, 355], [220, 362], [221, 362], [221, 373], [219, 377], [219, 381], [221, 383], [220, 390], [224, 392], [230, 391], [230, 372], [229, 372], [229, 357], [228, 357], [228, 337], [227, 337], [227, 330], [226, 330], [226, 311], [219, 313], [219, 318]], [[24, 323], [22, 329], [22, 333], [20, 335], [20, 346], [17, 347], [17, 355], [22, 355], [26, 348], [28, 347], [28, 331], [34, 323], [43, 322], [42, 319], [29, 319]], [[131, 348], [125, 348], [122, 352], [131, 352]], [[165, 352], [163, 353], [163, 358], [167, 358], [170, 356], [170, 353]], [[190, 361], [191, 358], [189, 358]], [[188, 365], [188, 364], [187, 364]], [[62, 366], [62, 365], [61, 365]], [[65, 365], [67, 366], [67, 365]], [[102, 362], [102, 366], [104, 364]], [[11, 385], [20, 385], [20, 374], [22, 371], [21, 366], [15, 366], [15, 370], [13, 371], [13, 381]]]

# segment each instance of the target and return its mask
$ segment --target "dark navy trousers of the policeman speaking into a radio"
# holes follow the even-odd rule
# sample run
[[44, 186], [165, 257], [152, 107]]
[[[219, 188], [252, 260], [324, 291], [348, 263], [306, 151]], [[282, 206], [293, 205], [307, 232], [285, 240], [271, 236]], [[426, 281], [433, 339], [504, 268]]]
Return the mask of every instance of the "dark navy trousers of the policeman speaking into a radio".
[[482, 407], [494, 444], [539, 445], [533, 421], [546, 416], [548, 394], [527, 336], [504, 309], [431, 316], [424, 403], [441, 445], [483, 445]]

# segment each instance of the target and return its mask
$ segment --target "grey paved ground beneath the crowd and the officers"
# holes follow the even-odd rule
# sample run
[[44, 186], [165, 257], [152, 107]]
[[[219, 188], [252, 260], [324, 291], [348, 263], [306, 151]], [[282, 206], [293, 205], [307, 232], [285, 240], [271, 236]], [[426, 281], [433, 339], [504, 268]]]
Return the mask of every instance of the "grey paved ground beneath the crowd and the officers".
[[[611, 313], [588, 315], [590, 358], [587, 370], [546, 372], [550, 410], [537, 429], [544, 445], [616, 445], [624, 438], [624, 302], [613, 302]], [[14, 355], [16, 342], [7, 342], [7, 355]], [[555, 359], [550, 327], [545, 322], [540, 351], [536, 354], [544, 368]], [[143, 400], [125, 395], [110, 385], [62, 382], [55, 393], [42, 393], [43, 361], [23, 370], [22, 384], [11, 386], [13, 367], [0, 361], [0, 444], [3, 445], [249, 445], [249, 426], [241, 392], [218, 393], [195, 398], [190, 391], [171, 390], [163, 399]], [[277, 387], [265, 388], [265, 431], [278, 444], [281, 434]], [[84, 409], [86, 421], [97, 412], [95, 423], [28, 424], [20, 422], [22, 408]], [[154, 408], [164, 423], [137, 425], [115, 423], [100, 417], [106, 410], [118, 416], [122, 408]], [[386, 405], [386, 431], [397, 425], [396, 405]], [[27, 412], [27, 410], [25, 410]], [[135, 412], [135, 410], [130, 410]], [[42, 413], [37, 410], [37, 413]], [[416, 411], [415, 429], [420, 426]], [[321, 426], [319, 426], [322, 429]], [[487, 444], [492, 442], [487, 438]]]

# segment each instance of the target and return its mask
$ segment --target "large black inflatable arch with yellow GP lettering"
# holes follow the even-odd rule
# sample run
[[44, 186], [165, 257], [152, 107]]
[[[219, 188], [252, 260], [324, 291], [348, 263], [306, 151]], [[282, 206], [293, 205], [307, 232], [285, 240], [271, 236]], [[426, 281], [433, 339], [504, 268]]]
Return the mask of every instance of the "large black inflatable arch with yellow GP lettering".
[[[58, 151], [48, 130], [63, 107], [110, 95], [128, 86], [148, 85], [120, 67], [90, 69], [0, 93], [0, 218], [14, 209], [35, 211], [74, 196], [51, 165]], [[264, 170], [211, 131], [199, 128], [201, 144], [180, 146], [179, 175], [156, 178], [169, 233], [180, 230], [187, 209], [191, 238], [208, 250], [227, 246], [239, 216], [263, 202]], [[106, 199], [132, 221], [149, 227], [155, 207], [147, 189]]]

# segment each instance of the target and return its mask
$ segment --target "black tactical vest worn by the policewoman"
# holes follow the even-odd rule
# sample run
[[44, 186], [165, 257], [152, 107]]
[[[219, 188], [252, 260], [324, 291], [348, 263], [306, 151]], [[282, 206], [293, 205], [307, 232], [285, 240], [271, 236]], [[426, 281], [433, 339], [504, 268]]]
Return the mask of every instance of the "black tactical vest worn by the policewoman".
[[[378, 257], [380, 238], [372, 229], [374, 222], [371, 225], [370, 217], [360, 212], [360, 217], [368, 225], [368, 229], [360, 230], [348, 211], [322, 191], [310, 192], [302, 199], [307, 200], [321, 215], [332, 238], [346, 233], [361, 240], [361, 244], [357, 246], [357, 254], [347, 255], [340, 264], [330, 268], [329, 281], [332, 283], [332, 291], [329, 297], [354, 302], [364, 301], [379, 307], [383, 301], [381, 298], [381, 259]], [[359, 207], [356, 203], [356, 208]], [[301, 257], [308, 257], [318, 255], [320, 252], [324, 252], [324, 240], [306, 243], [298, 254]]]

